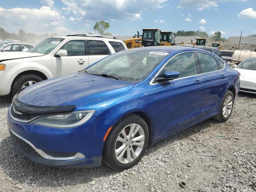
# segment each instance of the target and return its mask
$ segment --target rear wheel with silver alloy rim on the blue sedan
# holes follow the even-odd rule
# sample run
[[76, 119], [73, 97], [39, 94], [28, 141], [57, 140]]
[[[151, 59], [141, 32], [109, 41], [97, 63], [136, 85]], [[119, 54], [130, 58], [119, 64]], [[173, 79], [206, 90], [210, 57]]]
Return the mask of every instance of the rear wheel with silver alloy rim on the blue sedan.
[[220, 105], [220, 113], [213, 118], [220, 122], [226, 122], [232, 114], [234, 106], [234, 95], [230, 90], [227, 90], [224, 94]]

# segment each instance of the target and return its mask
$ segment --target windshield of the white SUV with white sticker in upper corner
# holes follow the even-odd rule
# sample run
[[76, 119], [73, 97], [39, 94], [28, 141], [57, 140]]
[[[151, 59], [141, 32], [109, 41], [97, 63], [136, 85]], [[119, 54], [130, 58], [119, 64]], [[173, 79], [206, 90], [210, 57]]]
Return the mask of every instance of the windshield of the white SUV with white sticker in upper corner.
[[63, 40], [64, 40], [64, 38], [47, 38], [47, 39], [41, 41], [40, 43], [38, 43], [36, 46], [34, 46], [28, 52], [41, 53], [41, 54], [47, 55], [52, 50], [54, 50]]

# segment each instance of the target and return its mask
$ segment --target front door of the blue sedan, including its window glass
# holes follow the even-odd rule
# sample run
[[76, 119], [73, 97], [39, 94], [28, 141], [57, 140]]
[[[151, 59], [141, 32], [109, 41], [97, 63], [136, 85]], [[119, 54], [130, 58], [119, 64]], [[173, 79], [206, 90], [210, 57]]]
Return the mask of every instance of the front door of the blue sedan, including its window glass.
[[157, 83], [159, 92], [156, 136], [174, 131], [200, 115], [201, 98], [203, 97], [203, 80], [194, 52], [187, 52], [172, 58], [162, 69], [180, 72], [180, 77], [165, 83]]

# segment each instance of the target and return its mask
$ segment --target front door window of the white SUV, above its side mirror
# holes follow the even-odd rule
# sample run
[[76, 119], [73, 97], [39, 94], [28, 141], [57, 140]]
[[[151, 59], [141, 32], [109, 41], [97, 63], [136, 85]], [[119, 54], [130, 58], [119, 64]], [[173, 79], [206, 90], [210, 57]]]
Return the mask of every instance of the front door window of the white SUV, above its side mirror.
[[80, 56], [85, 55], [85, 43], [84, 40], [72, 40], [64, 44], [62, 50], [67, 50], [68, 56]]

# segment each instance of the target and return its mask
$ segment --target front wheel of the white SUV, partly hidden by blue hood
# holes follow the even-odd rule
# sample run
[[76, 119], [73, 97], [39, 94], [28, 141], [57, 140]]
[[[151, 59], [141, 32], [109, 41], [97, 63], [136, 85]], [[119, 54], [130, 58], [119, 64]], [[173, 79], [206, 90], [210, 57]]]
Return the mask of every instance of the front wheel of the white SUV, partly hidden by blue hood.
[[12, 86], [12, 96], [16, 95], [21, 89], [31, 86], [43, 79], [35, 74], [24, 74], [18, 77]]

